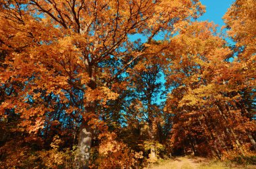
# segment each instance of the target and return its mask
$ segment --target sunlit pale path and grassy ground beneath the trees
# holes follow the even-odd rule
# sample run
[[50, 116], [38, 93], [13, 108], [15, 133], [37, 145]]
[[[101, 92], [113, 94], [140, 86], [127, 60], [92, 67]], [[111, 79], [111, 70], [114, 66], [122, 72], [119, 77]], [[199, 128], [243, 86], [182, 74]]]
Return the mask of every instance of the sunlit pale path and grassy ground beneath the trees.
[[[242, 166], [228, 162], [214, 162], [207, 158], [179, 157], [171, 160], [160, 160], [158, 164], [150, 166], [151, 169], [256, 169], [256, 166]], [[149, 169], [144, 168], [144, 169]]]

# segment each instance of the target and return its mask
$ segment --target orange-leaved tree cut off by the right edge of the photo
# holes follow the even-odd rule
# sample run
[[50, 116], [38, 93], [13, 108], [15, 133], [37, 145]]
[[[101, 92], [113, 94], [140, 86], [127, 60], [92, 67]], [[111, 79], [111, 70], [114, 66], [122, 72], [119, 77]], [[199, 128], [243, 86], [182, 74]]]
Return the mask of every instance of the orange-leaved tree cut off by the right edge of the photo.
[[[255, 123], [255, 1], [234, 1], [230, 9], [224, 15], [224, 21], [228, 28], [228, 35], [235, 43], [234, 50], [236, 57], [234, 64], [236, 65], [236, 73], [239, 78], [238, 94], [241, 100], [236, 102], [234, 106], [241, 110], [243, 116], [249, 118]], [[245, 84], [245, 85], [240, 85]], [[255, 133], [255, 131], [253, 132]], [[256, 150], [255, 135], [248, 132], [249, 139]], [[254, 137], [254, 138], [253, 138]]]

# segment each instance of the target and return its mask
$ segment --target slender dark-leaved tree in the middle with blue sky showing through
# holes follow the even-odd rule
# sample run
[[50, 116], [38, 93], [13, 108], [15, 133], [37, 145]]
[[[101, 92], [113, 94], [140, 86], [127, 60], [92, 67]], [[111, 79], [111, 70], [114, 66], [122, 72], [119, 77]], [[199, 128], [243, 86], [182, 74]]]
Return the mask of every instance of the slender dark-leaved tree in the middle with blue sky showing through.
[[[160, 141], [160, 121], [162, 114], [160, 110], [163, 86], [160, 81], [162, 67], [159, 58], [152, 57], [141, 59], [133, 69], [130, 70], [131, 81], [135, 88], [135, 105], [139, 121], [148, 126], [148, 139], [145, 142], [150, 146], [150, 159], [156, 160], [156, 143]], [[137, 103], [136, 103], [137, 102]], [[133, 103], [134, 104], [134, 103]]]

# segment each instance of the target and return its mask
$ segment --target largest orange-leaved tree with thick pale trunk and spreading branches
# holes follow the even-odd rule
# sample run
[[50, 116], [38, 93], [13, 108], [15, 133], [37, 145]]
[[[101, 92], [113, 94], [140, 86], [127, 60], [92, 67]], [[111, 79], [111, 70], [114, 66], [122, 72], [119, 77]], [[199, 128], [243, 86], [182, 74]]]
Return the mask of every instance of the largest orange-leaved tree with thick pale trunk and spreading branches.
[[[9, 51], [1, 84], [22, 84], [1, 104], [1, 114], [15, 108], [28, 133], [44, 128], [46, 114], [65, 112], [81, 121], [80, 161], [88, 166], [94, 129], [106, 132], [97, 106], [118, 97], [113, 81], [133, 61], [162, 50], [145, 43], [133, 50], [128, 36], [143, 34], [150, 44], [158, 32], [168, 35], [201, 11], [201, 3], [190, 0], [1, 1], [1, 50]], [[113, 59], [120, 63], [114, 72], [107, 64]], [[63, 111], [55, 111], [59, 103]]]

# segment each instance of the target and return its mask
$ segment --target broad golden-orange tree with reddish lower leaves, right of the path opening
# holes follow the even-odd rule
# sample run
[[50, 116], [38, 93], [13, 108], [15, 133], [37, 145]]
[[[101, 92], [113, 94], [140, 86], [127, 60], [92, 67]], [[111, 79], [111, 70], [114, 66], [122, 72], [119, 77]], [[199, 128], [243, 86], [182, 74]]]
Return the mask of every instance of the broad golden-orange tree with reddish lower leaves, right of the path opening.
[[166, 109], [174, 114], [174, 149], [218, 158], [227, 151], [245, 155], [255, 124], [234, 106], [245, 83], [229, 61], [232, 51], [225, 40], [214, 35], [212, 24], [196, 22], [172, 40], [167, 55], [167, 83], [173, 90]]

